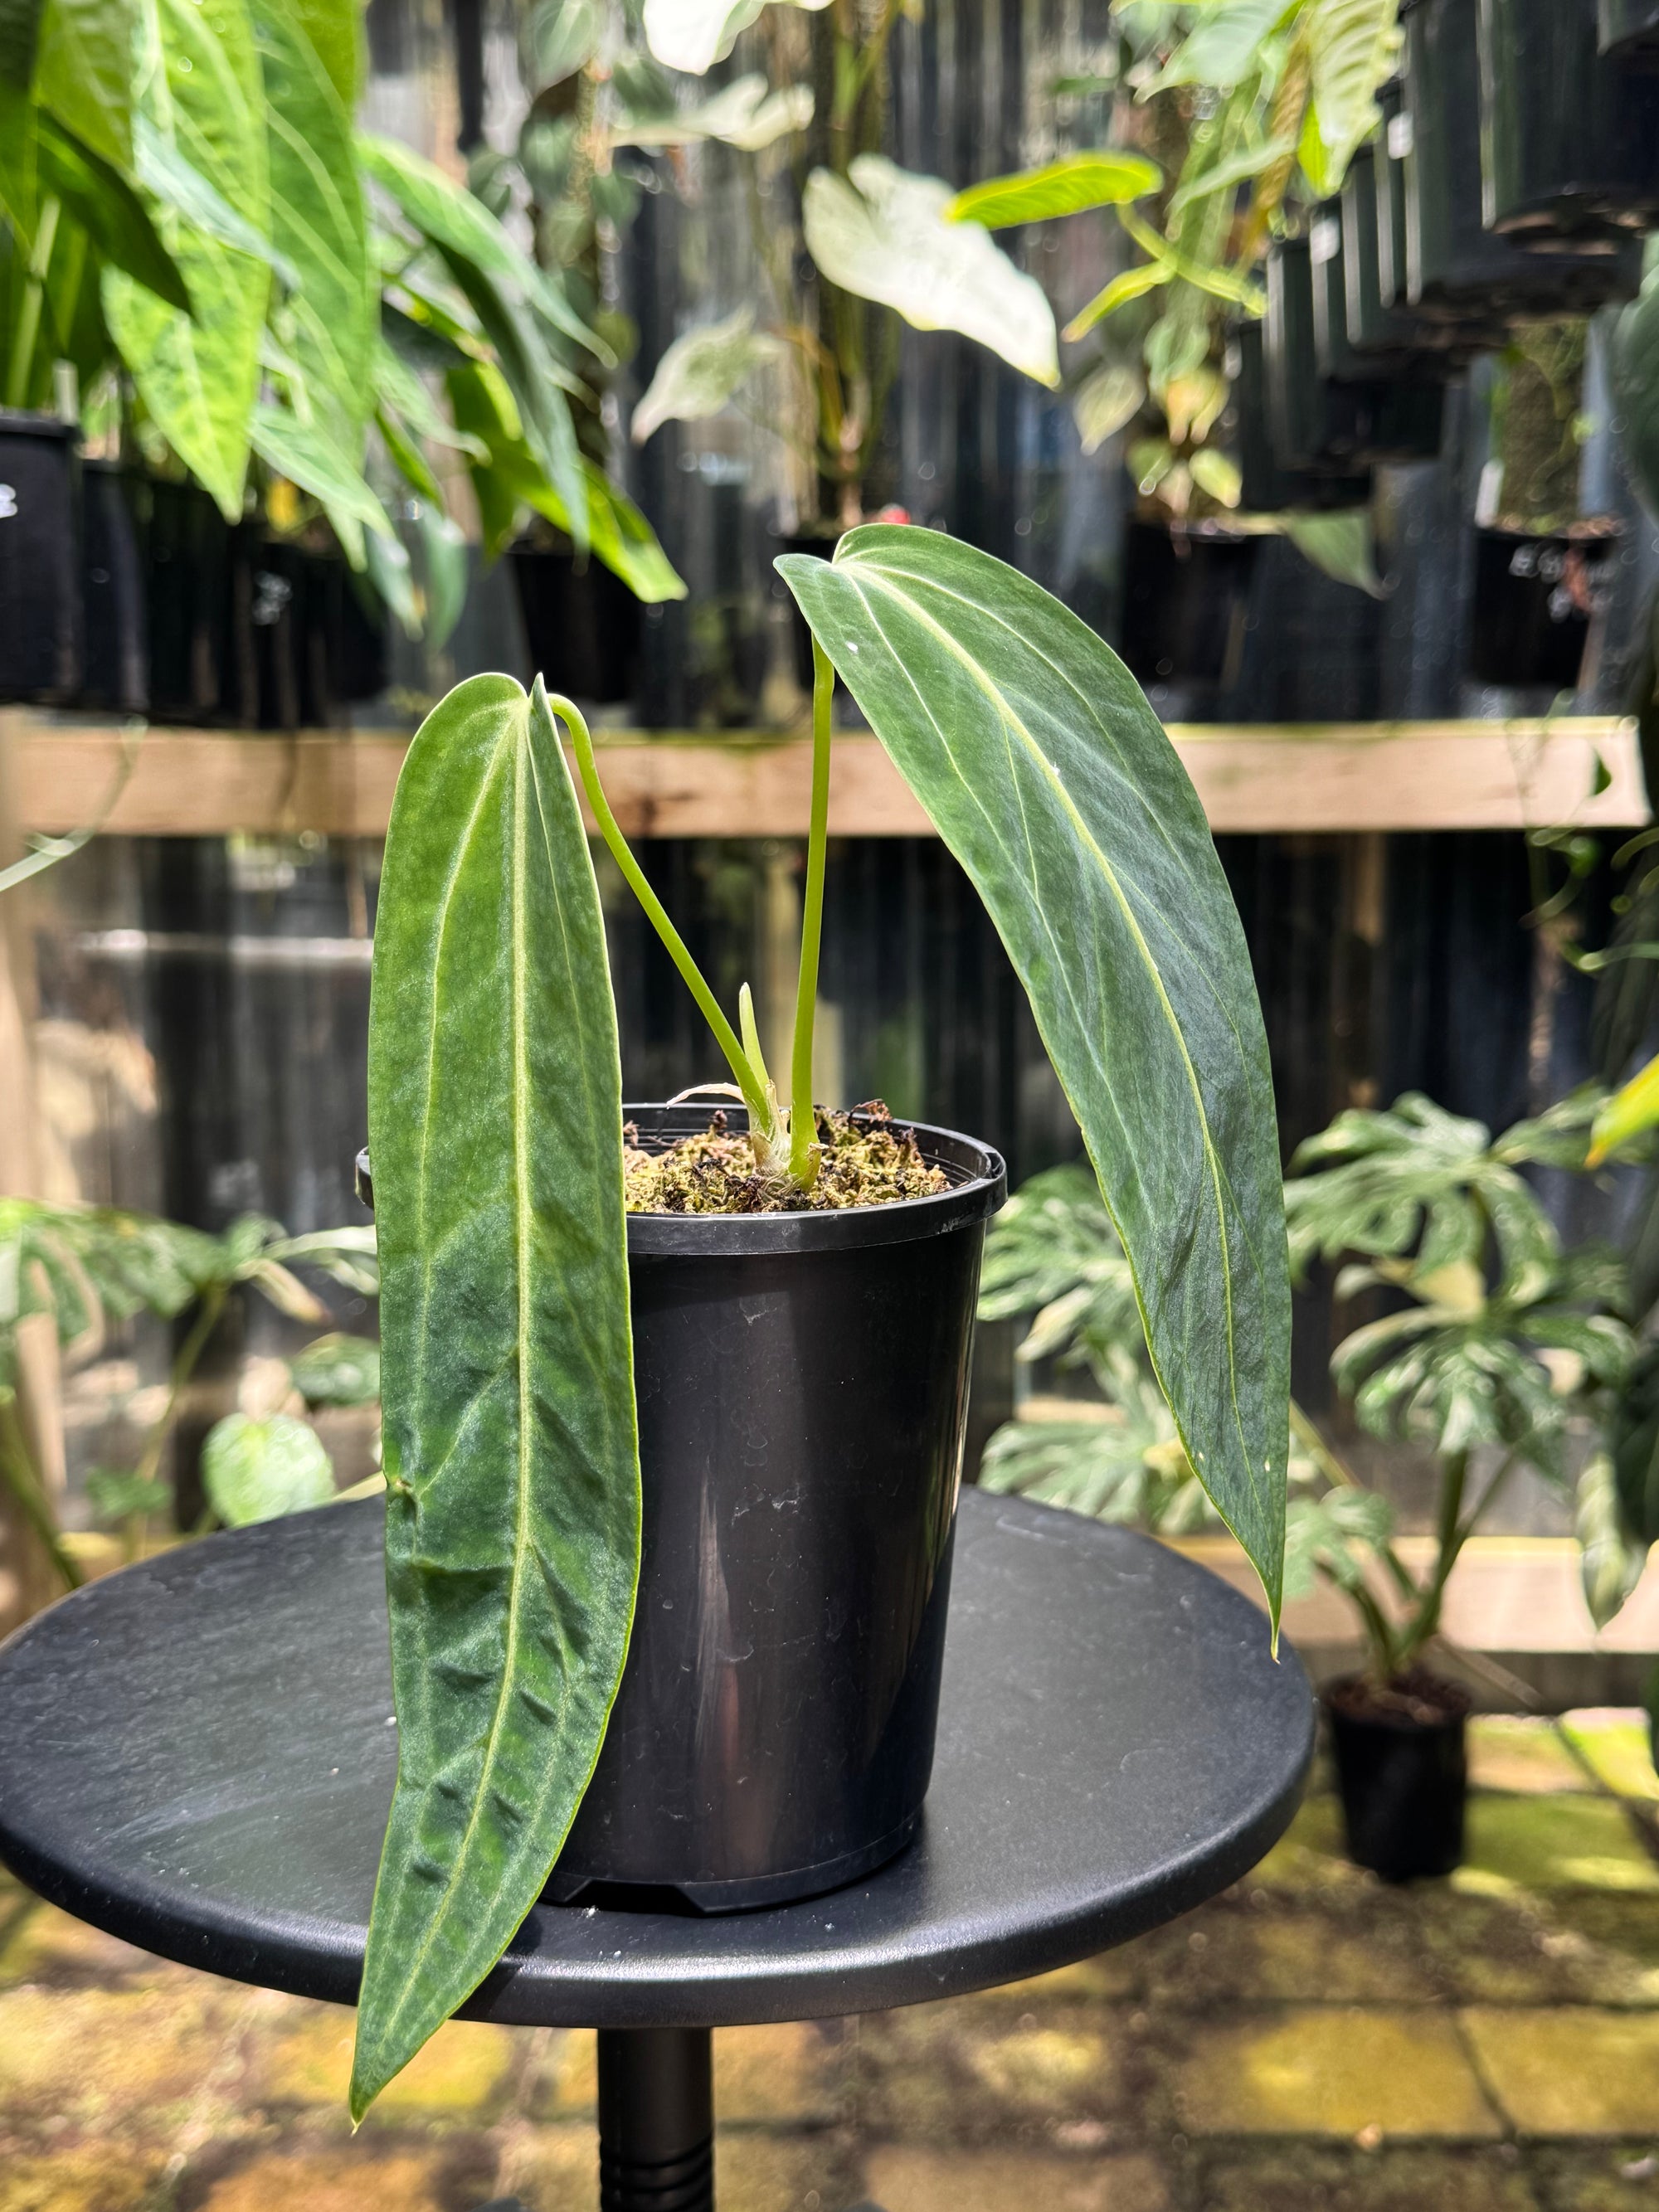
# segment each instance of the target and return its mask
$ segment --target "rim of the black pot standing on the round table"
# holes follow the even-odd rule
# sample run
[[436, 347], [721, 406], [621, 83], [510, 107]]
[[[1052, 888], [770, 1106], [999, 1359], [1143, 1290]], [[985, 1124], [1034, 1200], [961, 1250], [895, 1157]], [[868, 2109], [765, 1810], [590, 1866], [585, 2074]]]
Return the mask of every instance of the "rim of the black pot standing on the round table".
[[[708, 1128], [714, 1104], [622, 1106], [624, 1121], [650, 1117], [650, 1133], [695, 1137]], [[748, 1124], [748, 1108], [723, 1108], [737, 1128]], [[922, 1157], [951, 1177], [949, 1190], [925, 1199], [894, 1199], [887, 1206], [845, 1206], [821, 1214], [628, 1214], [628, 1259], [761, 1259], [783, 1252], [863, 1252], [874, 1245], [916, 1243], [922, 1237], [949, 1237], [953, 1230], [989, 1221], [1009, 1197], [1009, 1170], [1002, 1155], [931, 1121], [905, 1121], [916, 1135]], [[374, 1183], [367, 1146], [356, 1155], [356, 1192], [374, 1210]]]

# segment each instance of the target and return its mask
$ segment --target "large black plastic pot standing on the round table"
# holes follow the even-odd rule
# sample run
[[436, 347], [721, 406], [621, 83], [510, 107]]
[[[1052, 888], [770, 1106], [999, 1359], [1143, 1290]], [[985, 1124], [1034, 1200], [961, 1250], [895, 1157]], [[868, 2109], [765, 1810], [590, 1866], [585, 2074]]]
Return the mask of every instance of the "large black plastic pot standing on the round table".
[[[708, 1128], [706, 1106], [626, 1115], [646, 1148]], [[628, 1214], [639, 1601], [555, 1902], [783, 1905], [916, 1832], [980, 1250], [1006, 1197], [989, 1146], [916, 1137], [951, 1177], [936, 1197]]]

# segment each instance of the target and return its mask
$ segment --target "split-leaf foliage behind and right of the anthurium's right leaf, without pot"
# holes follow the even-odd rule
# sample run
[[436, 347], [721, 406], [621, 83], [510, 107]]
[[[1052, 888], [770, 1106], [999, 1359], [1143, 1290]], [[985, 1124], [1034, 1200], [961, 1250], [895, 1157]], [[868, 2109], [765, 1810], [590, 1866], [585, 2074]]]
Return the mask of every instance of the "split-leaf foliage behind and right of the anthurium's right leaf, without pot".
[[[1338, 1303], [1380, 1292], [1394, 1307], [1343, 1338], [1332, 1378], [1367, 1433], [1438, 1462], [1436, 1548], [1416, 1573], [1389, 1502], [1292, 1407], [1285, 1595], [1316, 1579], [1338, 1588], [1378, 1681], [1409, 1672], [1440, 1635], [1458, 1555], [1517, 1469], [1573, 1502], [1597, 1626], [1659, 1540], [1659, 1347], [1637, 1343], [1619, 1254], [1564, 1252], [1522, 1172], [1584, 1170], [1599, 1099], [1586, 1091], [1493, 1141], [1409, 1093], [1338, 1115], [1292, 1159], [1294, 1274], [1343, 1263]], [[980, 1318], [1020, 1314], [1035, 1318], [1015, 1358], [1086, 1367], [1097, 1398], [1037, 1400], [989, 1440], [980, 1482], [1164, 1535], [1219, 1528], [1161, 1407], [1128, 1265], [1082, 1164], [1033, 1177], [991, 1228]]]

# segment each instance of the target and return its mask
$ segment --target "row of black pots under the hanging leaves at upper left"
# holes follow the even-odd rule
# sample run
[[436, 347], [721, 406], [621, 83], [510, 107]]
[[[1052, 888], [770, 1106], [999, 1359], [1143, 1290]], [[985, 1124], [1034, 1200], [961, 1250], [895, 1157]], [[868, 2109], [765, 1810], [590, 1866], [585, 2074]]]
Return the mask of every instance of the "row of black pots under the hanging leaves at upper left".
[[53, 416], [0, 414], [0, 606], [9, 701], [296, 730], [387, 681], [385, 617], [338, 553], [82, 460]]

